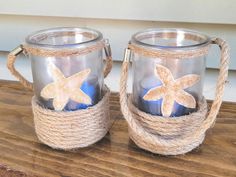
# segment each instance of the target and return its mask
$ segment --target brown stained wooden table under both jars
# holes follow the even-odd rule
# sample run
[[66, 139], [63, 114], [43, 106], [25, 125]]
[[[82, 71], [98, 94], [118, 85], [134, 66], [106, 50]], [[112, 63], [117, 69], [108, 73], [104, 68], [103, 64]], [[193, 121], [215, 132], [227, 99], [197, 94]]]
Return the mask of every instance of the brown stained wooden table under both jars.
[[110, 133], [78, 152], [53, 150], [34, 132], [32, 92], [0, 81], [0, 176], [236, 176], [236, 104], [224, 103], [199, 148], [161, 156], [138, 148], [128, 137], [117, 93], [111, 95]]

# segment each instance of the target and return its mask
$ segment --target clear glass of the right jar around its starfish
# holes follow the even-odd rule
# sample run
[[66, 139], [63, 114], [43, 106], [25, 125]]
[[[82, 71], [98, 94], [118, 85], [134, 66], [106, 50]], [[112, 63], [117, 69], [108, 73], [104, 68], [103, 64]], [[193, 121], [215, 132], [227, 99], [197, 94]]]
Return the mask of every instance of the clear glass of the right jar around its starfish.
[[[149, 29], [132, 36], [131, 44], [155, 50], [194, 50], [209, 44], [209, 38], [195, 31], [185, 29]], [[147, 58], [134, 53], [133, 67], [133, 103], [142, 111], [160, 115], [162, 99], [146, 101], [143, 96], [153, 87], [161, 85], [161, 81], [154, 73], [157, 64], [167, 67], [175, 79], [187, 74], [197, 74], [200, 81], [185, 89], [193, 95], [196, 101], [202, 99], [206, 56], [184, 59]], [[189, 114], [195, 109], [186, 108], [175, 102], [172, 117]]]

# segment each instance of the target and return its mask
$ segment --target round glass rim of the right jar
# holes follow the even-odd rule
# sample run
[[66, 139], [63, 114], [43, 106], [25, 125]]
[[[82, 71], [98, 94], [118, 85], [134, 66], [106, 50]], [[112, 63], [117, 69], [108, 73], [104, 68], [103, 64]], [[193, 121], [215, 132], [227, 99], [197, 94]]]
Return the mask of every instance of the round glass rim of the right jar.
[[[175, 38], [177, 36], [182, 39], [188, 37], [189, 39], [195, 40], [196, 44], [189, 45], [161, 45], [161, 44], [150, 44], [148, 42], [141, 41], [146, 37], [160, 37], [163, 39]], [[196, 47], [206, 46], [210, 43], [210, 37], [202, 34], [198, 31], [184, 29], [184, 28], [150, 28], [143, 31], [139, 31], [132, 35], [130, 43], [141, 45], [144, 47], [151, 47], [157, 49], [192, 49]]]

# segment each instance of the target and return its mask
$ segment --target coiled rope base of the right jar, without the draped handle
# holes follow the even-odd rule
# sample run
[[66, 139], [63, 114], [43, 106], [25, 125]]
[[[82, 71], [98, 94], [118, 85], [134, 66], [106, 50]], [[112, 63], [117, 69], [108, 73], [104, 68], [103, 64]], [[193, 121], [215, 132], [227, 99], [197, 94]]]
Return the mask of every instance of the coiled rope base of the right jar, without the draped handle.
[[[198, 147], [205, 138], [205, 132], [199, 134], [198, 137], [189, 138], [200, 128], [206, 118], [208, 109], [205, 99], [198, 103], [199, 108], [196, 112], [177, 118], [147, 114], [133, 105], [132, 98], [129, 98], [128, 105], [137, 124], [146, 131], [144, 137], [137, 129], [130, 126], [128, 128], [130, 138], [142, 149], [163, 155], [184, 154]], [[155, 136], [162, 143], [156, 144], [150, 141], [150, 136]], [[179, 141], [185, 141], [185, 143], [178, 144]]]

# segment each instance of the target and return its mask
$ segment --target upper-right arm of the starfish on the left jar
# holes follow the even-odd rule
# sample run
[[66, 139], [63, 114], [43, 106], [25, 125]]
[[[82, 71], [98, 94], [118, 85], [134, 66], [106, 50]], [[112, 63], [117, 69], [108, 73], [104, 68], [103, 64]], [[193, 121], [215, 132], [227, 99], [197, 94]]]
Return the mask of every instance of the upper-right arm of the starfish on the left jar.
[[90, 72], [91, 72], [91, 69], [85, 69], [85, 70], [82, 70], [82, 71], [66, 78], [67, 87], [69, 87], [70, 90], [71, 90], [71, 88], [73, 88], [73, 89], [80, 88], [81, 85], [83, 84], [84, 80], [90, 74]]

